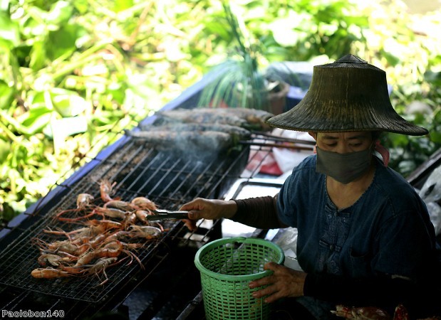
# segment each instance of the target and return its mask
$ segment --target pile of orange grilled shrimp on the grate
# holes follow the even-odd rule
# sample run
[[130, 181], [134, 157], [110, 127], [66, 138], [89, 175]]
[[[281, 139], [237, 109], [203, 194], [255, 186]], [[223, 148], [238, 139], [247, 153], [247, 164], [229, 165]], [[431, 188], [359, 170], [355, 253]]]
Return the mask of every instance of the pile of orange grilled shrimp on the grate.
[[[43, 230], [43, 233], [60, 240], [47, 242], [34, 238], [41, 254], [38, 267], [32, 270], [35, 278], [80, 277], [95, 274], [100, 284], [108, 282], [105, 270], [122, 262], [130, 264], [136, 260], [143, 268], [136, 250], [142, 246], [140, 240], [152, 240], [164, 231], [159, 223], [151, 225], [147, 215], [157, 209], [155, 203], [145, 197], [133, 198], [130, 202], [112, 198], [115, 183], [100, 182], [102, 206], [95, 205], [94, 197], [80, 193], [75, 209], [63, 210], [56, 220], [73, 225], [64, 230]], [[133, 242], [135, 240], [136, 242]]]

